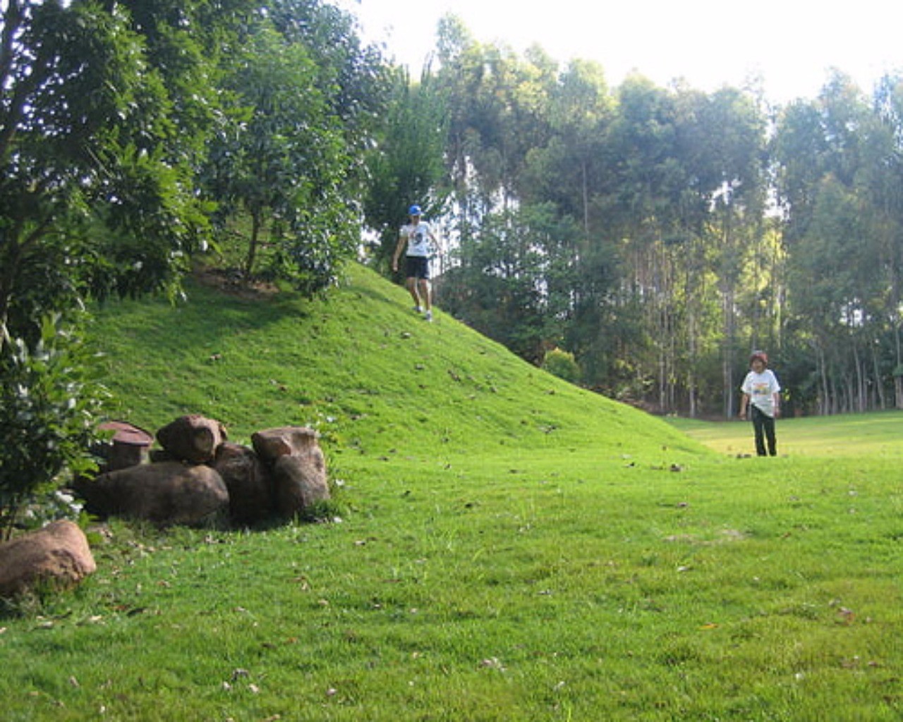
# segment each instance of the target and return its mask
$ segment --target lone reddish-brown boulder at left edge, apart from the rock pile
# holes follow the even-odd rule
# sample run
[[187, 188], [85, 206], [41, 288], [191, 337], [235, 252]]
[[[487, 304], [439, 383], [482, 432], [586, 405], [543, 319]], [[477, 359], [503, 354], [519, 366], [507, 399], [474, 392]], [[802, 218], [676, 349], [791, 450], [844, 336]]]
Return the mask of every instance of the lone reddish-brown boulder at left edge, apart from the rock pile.
[[96, 570], [78, 524], [52, 522], [0, 544], [0, 597], [15, 597], [37, 586], [69, 588]]

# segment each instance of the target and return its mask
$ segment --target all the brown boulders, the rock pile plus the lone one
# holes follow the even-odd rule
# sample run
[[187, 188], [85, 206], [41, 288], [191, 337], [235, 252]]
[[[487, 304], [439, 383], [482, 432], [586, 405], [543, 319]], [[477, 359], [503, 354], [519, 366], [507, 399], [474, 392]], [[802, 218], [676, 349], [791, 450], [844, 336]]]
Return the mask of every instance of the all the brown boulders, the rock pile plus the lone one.
[[[330, 498], [316, 431], [288, 426], [257, 431], [252, 447], [227, 440], [219, 421], [193, 414], [153, 437], [124, 422], [105, 424], [112, 440], [95, 449], [101, 473], [80, 478], [74, 491], [90, 514], [158, 524], [199, 524], [228, 514], [235, 524], [303, 515]], [[0, 597], [36, 585], [78, 584], [96, 566], [88, 541], [71, 522], [0, 544]]]

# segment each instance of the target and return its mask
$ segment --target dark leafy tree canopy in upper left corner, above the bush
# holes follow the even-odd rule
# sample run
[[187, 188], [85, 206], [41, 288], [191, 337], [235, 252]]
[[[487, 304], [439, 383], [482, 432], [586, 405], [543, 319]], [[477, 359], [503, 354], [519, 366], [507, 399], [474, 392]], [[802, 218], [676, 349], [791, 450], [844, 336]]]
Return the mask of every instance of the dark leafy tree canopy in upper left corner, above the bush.
[[[5, 14], [0, 344], [6, 332], [33, 341], [36, 319], [87, 294], [166, 287], [200, 241], [193, 162], [209, 91], [183, 94], [207, 66], [184, 27], [144, 9], [143, 23], [84, 0]], [[156, 65], [167, 42], [180, 62]]]

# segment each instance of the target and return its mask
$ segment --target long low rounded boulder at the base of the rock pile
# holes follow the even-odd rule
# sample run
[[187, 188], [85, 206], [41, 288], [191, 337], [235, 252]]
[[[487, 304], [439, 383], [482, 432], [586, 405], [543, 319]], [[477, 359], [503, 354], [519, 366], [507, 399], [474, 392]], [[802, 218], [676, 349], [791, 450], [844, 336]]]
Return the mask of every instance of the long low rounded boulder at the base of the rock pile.
[[75, 490], [98, 516], [127, 516], [159, 524], [198, 524], [228, 506], [216, 470], [178, 461], [142, 464], [79, 480]]

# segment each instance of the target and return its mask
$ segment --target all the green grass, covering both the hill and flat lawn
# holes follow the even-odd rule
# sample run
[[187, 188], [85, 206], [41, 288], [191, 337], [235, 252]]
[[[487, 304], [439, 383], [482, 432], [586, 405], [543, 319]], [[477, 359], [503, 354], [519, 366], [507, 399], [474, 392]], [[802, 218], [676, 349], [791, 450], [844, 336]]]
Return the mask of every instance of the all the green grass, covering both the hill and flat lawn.
[[407, 305], [355, 269], [101, 313], [114, 415], [315, 425], [343, 511], [92, 532], [94, 577], [0, 620], [0, 717], [903, 716], [889, 427], [779, 422], [785, 456], [738, 458], [746, 424], [675, 429]]

